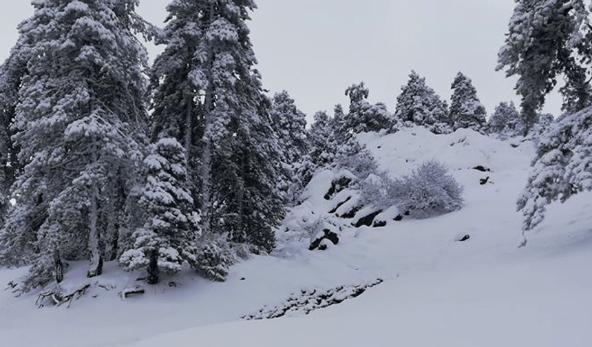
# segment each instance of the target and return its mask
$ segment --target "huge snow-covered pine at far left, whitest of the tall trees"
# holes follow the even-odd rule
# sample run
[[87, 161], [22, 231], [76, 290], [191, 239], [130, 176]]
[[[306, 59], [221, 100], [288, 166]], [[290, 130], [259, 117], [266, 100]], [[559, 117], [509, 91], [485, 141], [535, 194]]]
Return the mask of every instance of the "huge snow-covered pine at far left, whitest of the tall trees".
[[107, 199], [125, 191], [142, 158], [145, 49], [136, 1], [33, 3], [19, 26], [27, 71], [15, 112], [22, 174], [0, 231], [2, 264], [31, 263], [21, 290], [63, 279], [65, 260], [102, 271]]

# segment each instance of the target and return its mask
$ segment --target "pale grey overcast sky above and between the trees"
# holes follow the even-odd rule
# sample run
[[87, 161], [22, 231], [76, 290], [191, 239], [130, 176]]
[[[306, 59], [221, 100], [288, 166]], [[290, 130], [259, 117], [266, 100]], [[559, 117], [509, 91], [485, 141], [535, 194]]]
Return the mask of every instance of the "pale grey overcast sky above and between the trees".
[[[142, 0], [138, 12], [155, 24], [170, 0]], [[487, 112], [516, 101], [514, 79], [496, 72], [514, 0], [256, 0], [251, 40], [264, 87], [288, 90], [312, 118], [348, 105], [344, 90], [364, 81], [370, 101], [394, 111], [414, 69], [442, 98], [458, 71], [472, 78]], [[0, 61], [17, 40], [17, 24], [32, 14], [28, 0], [0, 0]], [[158, 50], [149, 47], [151, 54]], [[558, 114], [551, 98], [546, 112]]]

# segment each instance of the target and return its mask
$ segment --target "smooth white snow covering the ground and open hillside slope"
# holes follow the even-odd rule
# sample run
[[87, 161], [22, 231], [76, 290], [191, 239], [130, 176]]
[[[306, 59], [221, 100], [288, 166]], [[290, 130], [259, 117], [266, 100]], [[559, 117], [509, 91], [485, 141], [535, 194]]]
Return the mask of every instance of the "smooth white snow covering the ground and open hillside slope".
[[[233, 266], [224, 283], [183, 273], [123, 301], [118, 292], [138, 274], [107, 264], [91, 284], [109, 291], [92, 286], [70, 308], [37, 309], [37, 293], [15, 299], [3, 291], [0, 346], [592, 346], [592, 194], [553, 204], [518, 249], [516, 198], [531, 143], [466, 130], [434, 136], [419, 127], [359, 138], [393, 176], [424, 160], [444, 162], [465, 188], [465, 207], [344, 230], [327, 251], [294, 240], [275, 256]], [[464, 234], [469, 240], [457, 242]], [[83, 281], [72, 269], [68, 275]], [[23, 271], [0, 270], [0, 283]], [[240, 319], [301, 289], [377, 278], [384, 282], [359, 297], [308, 315]]]

